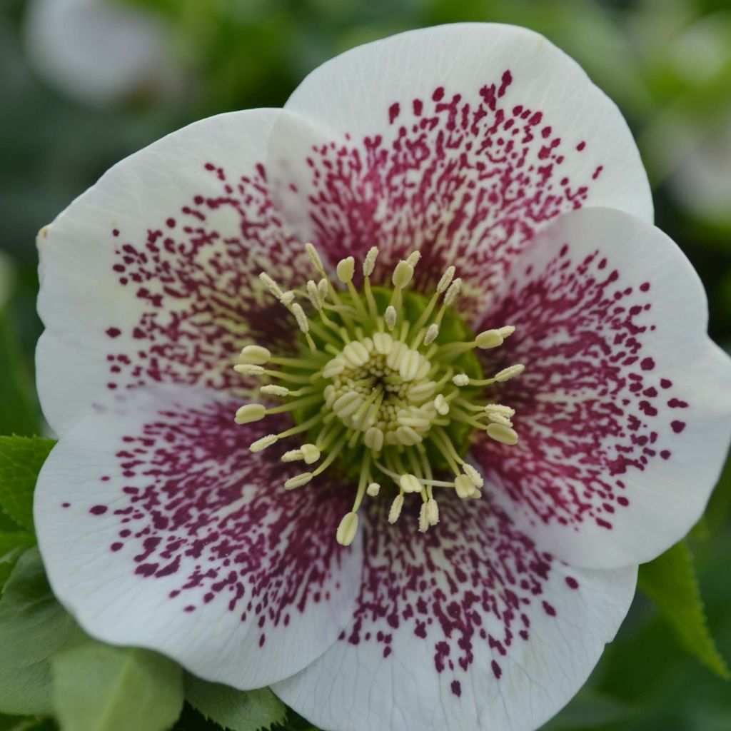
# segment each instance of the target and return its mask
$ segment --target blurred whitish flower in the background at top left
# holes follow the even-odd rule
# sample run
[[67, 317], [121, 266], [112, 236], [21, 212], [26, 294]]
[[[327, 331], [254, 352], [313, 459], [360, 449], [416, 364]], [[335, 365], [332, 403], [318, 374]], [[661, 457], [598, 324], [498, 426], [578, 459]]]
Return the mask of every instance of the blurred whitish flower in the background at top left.
[[32, 0], [25, 19], [26, 53], [61, 93], [94, 106], [140, 91], [175, 96], [183, 69], [164, 23], [110, 0]]

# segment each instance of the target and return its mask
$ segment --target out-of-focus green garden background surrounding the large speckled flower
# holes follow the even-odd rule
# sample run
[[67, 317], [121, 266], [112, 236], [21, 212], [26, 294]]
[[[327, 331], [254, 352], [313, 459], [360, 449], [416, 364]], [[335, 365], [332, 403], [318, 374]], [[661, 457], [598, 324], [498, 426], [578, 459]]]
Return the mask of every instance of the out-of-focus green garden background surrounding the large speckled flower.
[[[730, 0], [2, 0], [0, 433], [42, 430], [36, 232], [107, 167], [195, 119], [281, 106], [311, 69], [354, 45], [465, 20], [545, 34], [621, 107], [657, 224], [700, 273], [711, 335], [728, 349]], [[727, 469], [690, 541], [727, 659], [730, 506]], [[586, 689], [547, 728], [731, 730], [730, 684], [677, 637], [638, 596]], [[188, 709], [178, 726], [198, 727], [194, 716]]]

